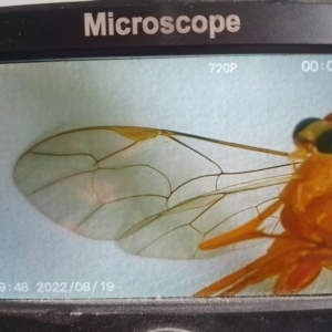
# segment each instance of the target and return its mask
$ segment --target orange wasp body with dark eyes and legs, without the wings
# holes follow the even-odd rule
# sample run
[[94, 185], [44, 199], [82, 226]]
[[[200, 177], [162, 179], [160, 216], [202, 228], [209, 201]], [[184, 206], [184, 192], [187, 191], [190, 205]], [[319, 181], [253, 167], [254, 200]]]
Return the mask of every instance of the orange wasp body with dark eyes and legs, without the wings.
[[264, 256], [200, 290], [196, 297], [232, 295], [276, 276], [274, 294], [298, 293], [313, 282], [323, 268], [331, 269], [332, 157], [326, 152], [319, 152], [315, 146], [318, 137], [324, 134], [324, 139], [329, 139], [324, 145], [332, 148], [330, 121], [331, 115], [323, 121], [313, 120], [294, 133], [294, 136], [298, 135], [294, 137], [298, 149], [290, 158], [303, 159], [303, 163], [298, 168], [294, 164], [292, 179], [276, 203], [257, 218], [203, 242], [199, 248], [209, 250], [242, 240], [272, 237], [257, 228], [279, 208], [284, 231], [276, 236]]

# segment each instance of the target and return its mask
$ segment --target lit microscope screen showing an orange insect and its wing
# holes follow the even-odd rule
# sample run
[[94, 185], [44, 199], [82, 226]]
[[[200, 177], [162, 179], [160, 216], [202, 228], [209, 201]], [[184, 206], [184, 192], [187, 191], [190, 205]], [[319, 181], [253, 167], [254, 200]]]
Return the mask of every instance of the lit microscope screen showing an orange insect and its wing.
[[332, 291], [331, 55], [0, 71], [1, 299]]

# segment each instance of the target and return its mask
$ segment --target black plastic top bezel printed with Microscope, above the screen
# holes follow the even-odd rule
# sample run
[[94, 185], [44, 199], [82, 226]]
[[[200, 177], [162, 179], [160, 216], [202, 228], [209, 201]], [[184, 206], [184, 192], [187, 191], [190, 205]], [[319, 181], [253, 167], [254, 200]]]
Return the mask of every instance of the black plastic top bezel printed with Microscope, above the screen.
[[[236, 14], [237, 32], [84, 35], [84, 13], [114, 18]], [[332, 6], [295, 2], [110, 0], [0, 8], [0, 61], [104, 56], [329, 53]]]

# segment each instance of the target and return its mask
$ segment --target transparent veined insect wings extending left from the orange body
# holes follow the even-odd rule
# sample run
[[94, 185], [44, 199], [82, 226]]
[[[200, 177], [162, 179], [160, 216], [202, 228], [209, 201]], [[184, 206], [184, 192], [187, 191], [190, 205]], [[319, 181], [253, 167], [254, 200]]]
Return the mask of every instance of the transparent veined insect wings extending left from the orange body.
[[[256, 217], [292, 168], [286, 154], [187, 134], [95, 127], [46, 138], [14, 169], [17, 186], [54, 222], [115, 240], [133, 255], [207, 258], [198, 245]], [[278, 224], [271, 216], [262, 227]]]

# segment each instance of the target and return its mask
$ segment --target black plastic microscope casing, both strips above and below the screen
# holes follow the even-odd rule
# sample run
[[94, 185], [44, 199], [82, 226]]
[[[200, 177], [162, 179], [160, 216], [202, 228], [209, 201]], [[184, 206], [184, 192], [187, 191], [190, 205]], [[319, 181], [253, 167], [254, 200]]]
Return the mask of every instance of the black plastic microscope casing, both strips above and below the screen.
[[[237, 32], [84, 35], [84, 13], [236, 14]], [[93, 1], [0, 9], [0, 62], [243, 53], [332, 53], [332, 4]], [[332, 297], [0, 300], [0, 331], [331, 331]], [[168, 330], [167, 330], [168, 329]], [[173, 329], [173, 330], [172, 330]]]

